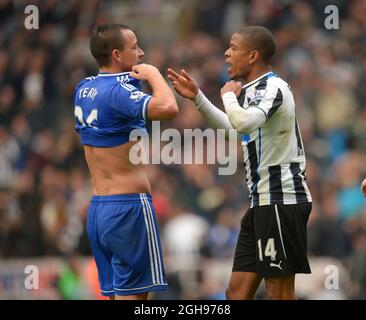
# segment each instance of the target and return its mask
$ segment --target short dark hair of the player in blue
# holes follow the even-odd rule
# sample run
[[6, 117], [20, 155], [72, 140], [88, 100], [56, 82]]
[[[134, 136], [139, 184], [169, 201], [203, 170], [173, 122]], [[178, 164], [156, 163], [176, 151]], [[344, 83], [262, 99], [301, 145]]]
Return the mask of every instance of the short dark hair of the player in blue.
[[94, 27], [89, 47], [99, 67], [111, 64], [111, 53], [114, 49], [123, 49], [124, 38], [121, 30], [130, 30], [124, 24], [101, 24]]

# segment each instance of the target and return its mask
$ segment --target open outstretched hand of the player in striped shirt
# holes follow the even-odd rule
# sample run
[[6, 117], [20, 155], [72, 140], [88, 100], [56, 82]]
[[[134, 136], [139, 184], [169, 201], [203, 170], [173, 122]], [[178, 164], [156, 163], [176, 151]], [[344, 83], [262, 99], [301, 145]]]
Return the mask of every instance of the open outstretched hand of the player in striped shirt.
[[174, 90], [183, 98], [193, 100], [198, 93], [196, 81], [185, 70], [181, 70], [180, 74], [170, 68], [167, 71]]

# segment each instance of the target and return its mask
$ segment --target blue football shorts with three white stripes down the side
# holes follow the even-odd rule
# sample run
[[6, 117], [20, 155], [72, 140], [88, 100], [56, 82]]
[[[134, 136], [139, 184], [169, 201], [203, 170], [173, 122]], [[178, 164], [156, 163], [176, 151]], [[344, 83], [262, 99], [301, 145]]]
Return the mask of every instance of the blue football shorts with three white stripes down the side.
[[93, 196], [87, 231], [102, 295], [168, 288], [149, 194]]

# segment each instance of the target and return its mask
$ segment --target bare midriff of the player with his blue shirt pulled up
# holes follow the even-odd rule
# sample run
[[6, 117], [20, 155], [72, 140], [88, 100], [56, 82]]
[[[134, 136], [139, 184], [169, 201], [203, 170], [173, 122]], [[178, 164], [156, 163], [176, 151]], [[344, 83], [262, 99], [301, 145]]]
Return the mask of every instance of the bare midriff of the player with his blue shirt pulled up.
[[145, 166], [134, 165], [129, 160], [134, 143], [113, 148], [84, 145], [94, 195], [151, 193]]

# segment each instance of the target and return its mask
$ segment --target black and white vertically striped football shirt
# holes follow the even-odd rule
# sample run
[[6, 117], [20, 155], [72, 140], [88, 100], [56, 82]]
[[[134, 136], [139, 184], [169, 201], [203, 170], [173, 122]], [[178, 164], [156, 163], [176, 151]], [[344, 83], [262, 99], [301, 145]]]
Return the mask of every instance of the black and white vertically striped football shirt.
[[242, 136], [251, 207], [311, 202], [290, 86], [269, 72], [243, 86], [238, 101], [266, 117], [258, 129]]

